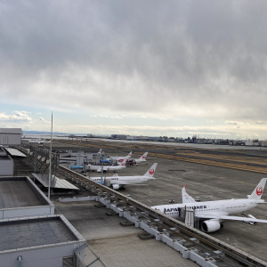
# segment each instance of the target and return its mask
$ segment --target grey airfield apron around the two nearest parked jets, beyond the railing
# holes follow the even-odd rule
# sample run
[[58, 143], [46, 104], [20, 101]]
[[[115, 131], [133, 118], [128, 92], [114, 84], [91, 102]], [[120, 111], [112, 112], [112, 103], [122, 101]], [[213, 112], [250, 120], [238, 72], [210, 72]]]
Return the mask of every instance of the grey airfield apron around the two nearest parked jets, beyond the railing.
[[[247, 198], [264, 177], [263, 174], [233, 170], [216, 166], [186, 163], [162, 158], [149, 157], [148, 163], [130, 166], [118, 175], [145, 174], [148, 168], [158, 162], [154, 177], [146, 185], [127, 186], [120, 192], [147, 206], [168, 204], [169, 201], [182, 203], [182, 187], [187, 184], [191, 197], [201, 201]], [[263, 192], [267, 199], [267, 190]], [[267, 205], [259, 205], [246, 212], [256, 218], [267, 219]], [[239, 214], [240, 215], [240, 214]], [[267, 224], [254, 225], [243, 222], [225, 222], [220, 231], [210, 233], [216, 239], [223, 240], [231, 246], [238, 247], [248, 254], [267, 261]]]

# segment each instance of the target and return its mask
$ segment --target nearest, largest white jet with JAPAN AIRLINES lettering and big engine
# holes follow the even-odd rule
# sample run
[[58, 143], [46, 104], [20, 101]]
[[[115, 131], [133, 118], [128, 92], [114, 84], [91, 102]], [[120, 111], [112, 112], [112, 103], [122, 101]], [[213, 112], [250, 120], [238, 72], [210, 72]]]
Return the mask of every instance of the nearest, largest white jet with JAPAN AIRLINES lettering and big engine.
[[226, 199], [215, 201], [197, 202], [194, 198], [186, 192], [185, 187], [182, 188], [182, 203], [151, 206], [151, 208], [159, 212], [169, 215], [173, 218], [178, 218], [182, 208], [193, 210], [195, 216], [199, 218], [201, 229], [205, 232], [218, 231], [223, 227], [223, 220], [243, 221], [249, 223], [267, 223], [267, 220], [256, 219], [254, 216], [241, 217], [230, 216], [230, 214], [240, 214], [247, 211], [257, 204], [266, 203], [262, 198], [263, 189], [267, 178], [263, 178], [251, 195], [247, 198]]

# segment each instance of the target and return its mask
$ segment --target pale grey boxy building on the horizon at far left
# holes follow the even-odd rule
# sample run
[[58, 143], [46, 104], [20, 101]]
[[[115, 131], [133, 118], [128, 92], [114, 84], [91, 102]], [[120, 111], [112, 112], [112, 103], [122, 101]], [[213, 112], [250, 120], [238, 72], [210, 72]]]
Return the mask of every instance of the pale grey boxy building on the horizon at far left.
[[20, 145], [21, 136], [21, 128], [0, 128], [0, 145]]

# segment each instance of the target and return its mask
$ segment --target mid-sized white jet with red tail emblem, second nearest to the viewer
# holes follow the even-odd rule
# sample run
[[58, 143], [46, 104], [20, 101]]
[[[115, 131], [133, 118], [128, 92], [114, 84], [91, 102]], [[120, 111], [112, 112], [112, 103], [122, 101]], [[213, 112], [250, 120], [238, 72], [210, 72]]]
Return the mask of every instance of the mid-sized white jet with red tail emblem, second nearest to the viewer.
[[118, 190], [120, 188], [124, 188], [125, 185], [128, 184], [139, 184], [142, 182], [148, 182], [151, 179], [156, 179], [153, 177], [155, 174], [155, 170], [158, 163], [154, 163], [150, 169], [144, 175], [136, 175], [136, 176], [118, 176], [117, 174], [109, 177], [91, 177], [90, 179], [94, 182], [98, 182], [99, 184], [110, 184], [114, 190]]

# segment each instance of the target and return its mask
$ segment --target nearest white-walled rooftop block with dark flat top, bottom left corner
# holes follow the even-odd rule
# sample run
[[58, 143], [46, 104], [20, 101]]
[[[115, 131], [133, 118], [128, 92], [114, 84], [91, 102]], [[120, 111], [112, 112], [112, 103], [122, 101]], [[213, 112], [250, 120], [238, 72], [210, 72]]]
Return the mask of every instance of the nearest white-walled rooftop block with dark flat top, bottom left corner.
[[0, 233], [0, 267], [61, 267], [84, 257], [86, 241], [63, 215], [1, 221]]

